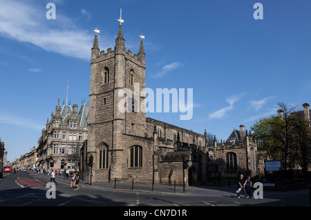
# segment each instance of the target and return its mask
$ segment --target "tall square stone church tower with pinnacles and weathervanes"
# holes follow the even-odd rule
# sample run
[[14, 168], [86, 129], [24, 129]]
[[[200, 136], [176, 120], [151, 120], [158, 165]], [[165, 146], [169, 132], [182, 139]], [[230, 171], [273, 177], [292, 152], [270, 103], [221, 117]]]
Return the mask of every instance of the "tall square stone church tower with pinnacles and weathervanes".
[[[140, 41], [138, 54], [126, 52], [123, 20], [120, 17], [118, 21], [114, 50], [100, 51], [97, 29], [91, 49], [87, 151], [93, 154], [93, 172], [98, 181], [122, 179], [127, 150], [124, 134], [144, 137], [146, 130], [144, 46]], [[131, 96], [129, 92], [124, 94], [126, 90]]]

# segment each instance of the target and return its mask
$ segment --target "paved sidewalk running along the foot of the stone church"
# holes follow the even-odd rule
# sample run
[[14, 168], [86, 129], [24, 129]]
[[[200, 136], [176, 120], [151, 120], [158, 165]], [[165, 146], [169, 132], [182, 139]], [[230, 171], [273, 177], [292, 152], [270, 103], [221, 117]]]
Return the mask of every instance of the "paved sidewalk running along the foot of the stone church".
[[[42, 174], [44, 175], [44, 174]], [[46, 174], [46, 176], [48, 176]], [[50, 177], [50, 176], [48, 176]], [[71, 178], [70, 176], [68, 179], [61, 175], [56, 175], [55, 181], [61, 181], [63, 183], [68, 183], [70, 185]], [[124, 185], [119, 182], [115, 183], [112, 181], [110, 183], [98, 183], [92, 182], [91, 185], [88, 181], [79, 181], [80, 188], [97, 188], [102, 190], [129, 190], [133, 192], [159, 192], [159, 193], [171, 193], [171, 194], [183, 194], [189, 196], [230, 196], [236, 197], [236, 190], [237, 187], [234, 184], [230, 186], [186, 186], [185, 192], [182, 186], [176, 186], [174, 189], [173, 186], [163, 187], [160, 188], [154, 187], [153, 191], [151, 190], [151, 185], [140, 185], [134, 186], [132, 190], [131, 183]], [[254, 190], [252, 190], [254, 192]], [[297, 190], [287, 190], [287, 191], [276, 191], [276, 190], [267, 190], [263, 188], [263, 197], [273, 197], [273, 196], [284, 196], [284, 195], [292, 195], [292, 194], [310, 194], [310, 190], [308, 188], [297, 189]], [[241, 193], [243, 195], [243, 192]]]

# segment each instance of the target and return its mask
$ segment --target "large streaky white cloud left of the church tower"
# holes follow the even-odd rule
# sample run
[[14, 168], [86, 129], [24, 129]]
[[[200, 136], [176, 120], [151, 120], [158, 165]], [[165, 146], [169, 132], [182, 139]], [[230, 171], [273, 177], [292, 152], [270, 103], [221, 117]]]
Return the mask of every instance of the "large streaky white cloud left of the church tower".
[[[69, 57], [89, 60], [93, 33], [79, 30], [73, 19], [57, 14], [56, 19], [46, 19], [46, 8], [37, 5], [37, 1], [0, 2], [0, 34], [3, 37], [21, 42], [32, 43], [49, 52]], [[86, 13], [86, 11], [84, 11]], [[102, 42], [109, 41], [102, 34]], [[106, 45], [106, 48], [111, 47]]]

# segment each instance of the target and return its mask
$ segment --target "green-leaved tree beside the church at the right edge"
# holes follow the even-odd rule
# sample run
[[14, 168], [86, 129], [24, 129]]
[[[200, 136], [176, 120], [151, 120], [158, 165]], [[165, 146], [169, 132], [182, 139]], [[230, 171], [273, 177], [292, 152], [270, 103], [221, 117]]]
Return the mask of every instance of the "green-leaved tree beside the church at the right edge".
[[296, 109], [285, 103], [278, 104], [279, 115], [256, 121], [251, 129], [256, 139], [263, 144], [258, 150], [265, 150], [272, 159], [283, 161], [283, 170], [299, 165], [304, 170], [310, 164], [310, 127], [307, 120], [297, 114]]

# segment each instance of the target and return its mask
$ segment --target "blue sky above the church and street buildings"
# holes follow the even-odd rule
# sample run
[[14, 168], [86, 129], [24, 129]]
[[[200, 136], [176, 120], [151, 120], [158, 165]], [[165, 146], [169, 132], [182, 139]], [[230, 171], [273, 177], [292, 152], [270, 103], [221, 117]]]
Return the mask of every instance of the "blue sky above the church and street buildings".
[[[254, 3], [263, 4], [255, 20]], [[56, 19], [46, 19], [55, 3]], [[227, 139], [275, 114], [278, 102], [311, 103], [311, 1], [0, 0], [0, 137], [13, 161], [37, 145], [57, 99], [88, 101], [94, 28], [113, 48], [122, 7], [126, 49], [145, 36], [146, 86], [193, 88], [194, 113], [147, 113]]]

